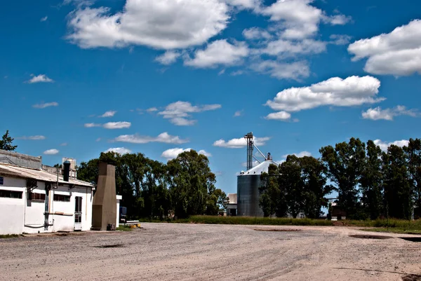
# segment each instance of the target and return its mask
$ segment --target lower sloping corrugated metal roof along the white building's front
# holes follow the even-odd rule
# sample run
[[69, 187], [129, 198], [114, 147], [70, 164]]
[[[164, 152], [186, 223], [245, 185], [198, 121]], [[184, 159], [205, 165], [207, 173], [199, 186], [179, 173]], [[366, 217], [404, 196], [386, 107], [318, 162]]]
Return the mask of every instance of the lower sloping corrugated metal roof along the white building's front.
[[[0, 163], [0, 174], [12, 177], [22, 177], [25, 179], [36, 179], [37, 181], [57, 182], [57, 174], [46, 172], [44, 170], [30, 169], [27, 167], [19, 167], [4, 163]], [[58, 182], [59, 184], [74, 184], [76, 186], [94, 187], [93, 184], [79, 179], [69, 178], [69, 181], [63, 181], [62, 175], [58, 176]]]

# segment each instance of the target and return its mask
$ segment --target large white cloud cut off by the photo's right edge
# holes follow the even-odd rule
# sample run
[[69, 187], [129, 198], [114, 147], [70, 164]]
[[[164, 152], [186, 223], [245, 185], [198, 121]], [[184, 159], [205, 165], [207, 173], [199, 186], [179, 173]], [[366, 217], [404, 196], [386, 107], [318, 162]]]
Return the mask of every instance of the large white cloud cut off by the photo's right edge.
[[353, 60], [368, 58], [364, 70], [371, 74], [421, 74], [421, 20], [396, 27], [388, 34], [355, 41], [348, 52], [354, 55]]

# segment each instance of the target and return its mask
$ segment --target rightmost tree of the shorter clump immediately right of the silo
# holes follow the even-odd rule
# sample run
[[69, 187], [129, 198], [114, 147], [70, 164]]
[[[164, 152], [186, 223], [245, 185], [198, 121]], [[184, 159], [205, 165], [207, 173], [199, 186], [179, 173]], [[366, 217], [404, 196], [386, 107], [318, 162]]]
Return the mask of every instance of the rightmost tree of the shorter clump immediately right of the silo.
[[321, 207], [328, 207], [327, 196], [333, 186], [326, 184], [327, 168], [321, 160], [311, 156], [300, 158], [304, 191], [302, 194], [302, 212], [305, 217], [317, 219], [322, 214]]

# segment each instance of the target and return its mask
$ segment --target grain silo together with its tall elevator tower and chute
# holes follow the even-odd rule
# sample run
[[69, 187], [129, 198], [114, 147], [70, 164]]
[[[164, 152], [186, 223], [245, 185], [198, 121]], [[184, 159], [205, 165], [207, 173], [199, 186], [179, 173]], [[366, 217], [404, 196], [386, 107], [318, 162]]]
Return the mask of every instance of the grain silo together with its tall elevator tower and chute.
[[[247, 170], [241, 172], [237, 177], [237, 215], [245, 217], [263, 217], [263, 211], [259, 206], [260, 199], [260, 176], [263, 172], [269, 171], [269, 165], [278, 165], [272, 160], [270, 153], [265, 154], [255, 146], [253, 142], [253, 132], [244, 136], [247, 142]], [[261, 162], [253, 155], [253, 149], [258, 150], [265, 158]], [[253, 159], [259, 164], [253, 167]]]

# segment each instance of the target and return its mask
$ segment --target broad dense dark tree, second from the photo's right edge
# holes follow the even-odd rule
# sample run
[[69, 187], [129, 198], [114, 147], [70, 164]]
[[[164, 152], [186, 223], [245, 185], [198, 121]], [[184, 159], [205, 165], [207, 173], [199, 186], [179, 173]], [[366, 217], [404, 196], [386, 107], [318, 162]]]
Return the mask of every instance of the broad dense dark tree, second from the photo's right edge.
[[385, 204], [388, 216], [396, 219], [410, 219], [413, 212], [413, 189], [406, 160], [405, 152], [396, 145], [389, 146], [382, 155]]

